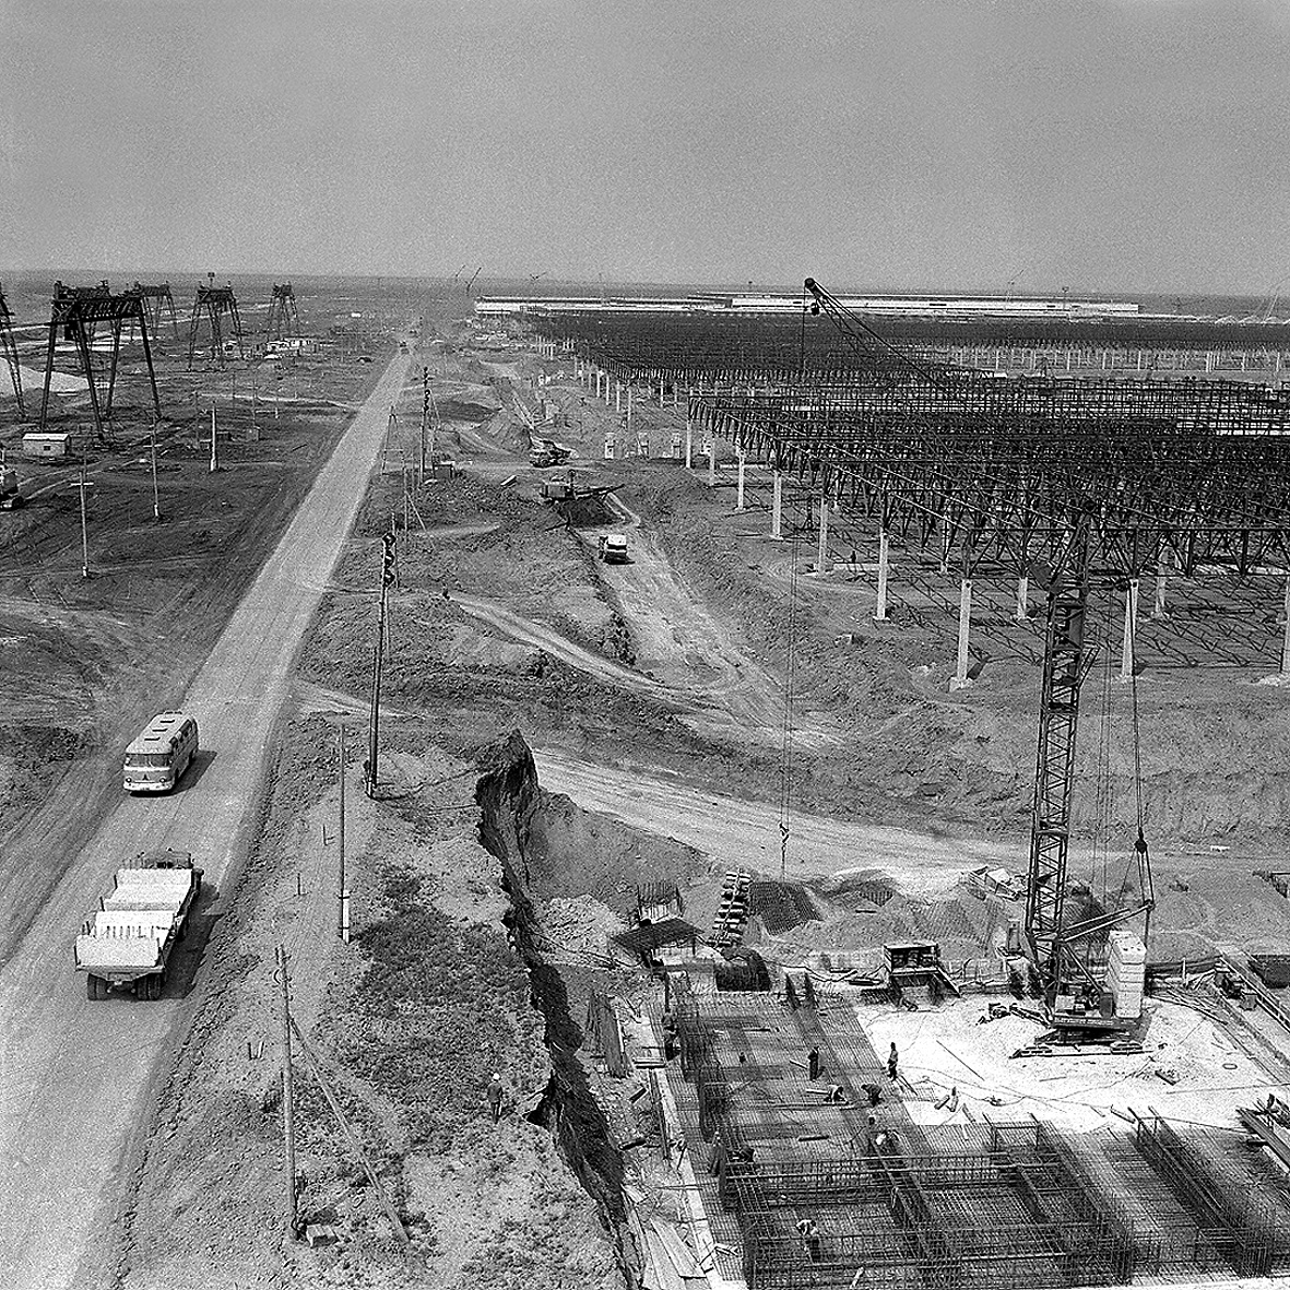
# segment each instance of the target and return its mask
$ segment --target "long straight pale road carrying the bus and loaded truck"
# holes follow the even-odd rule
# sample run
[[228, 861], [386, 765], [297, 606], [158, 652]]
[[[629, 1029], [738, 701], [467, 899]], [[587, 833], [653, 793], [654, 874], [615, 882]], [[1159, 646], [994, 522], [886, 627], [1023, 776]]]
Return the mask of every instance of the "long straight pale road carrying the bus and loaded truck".
[[353, 522], [409, 357], [396, 357], [322, 467], [184, 699], [213, 753], [164, 799], [125, 799], [0, 973], [0, 1287], [97, 1280], [125, 1192], [132, 1134], [164, 1068], [181, 1002], [92, 1004], [71, 942], [120, 857], [191, 850], [227, 891], [289, 671]]

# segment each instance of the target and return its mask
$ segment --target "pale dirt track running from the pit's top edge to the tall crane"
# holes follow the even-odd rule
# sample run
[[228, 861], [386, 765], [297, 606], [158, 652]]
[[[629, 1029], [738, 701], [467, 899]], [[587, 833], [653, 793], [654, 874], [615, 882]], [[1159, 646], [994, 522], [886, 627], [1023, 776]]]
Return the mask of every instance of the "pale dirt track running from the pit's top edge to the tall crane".
[[[716, 797], [685, 787], [681, 775], [592, 765], [555, 749], [534, 749], [534, 757], [542, 787], [566, 793], [587, 810], [685, 842], [719, 864], [779, 872], [779, 809], [771, 802]], [[979, 864], [1026, 867], [1022, 849], [1004, 842], [937, 837], [800, 811], [792, 813], [789, 829], [791, 878], [882, 869], [907, 894], [931, 895], [948, 891]]]

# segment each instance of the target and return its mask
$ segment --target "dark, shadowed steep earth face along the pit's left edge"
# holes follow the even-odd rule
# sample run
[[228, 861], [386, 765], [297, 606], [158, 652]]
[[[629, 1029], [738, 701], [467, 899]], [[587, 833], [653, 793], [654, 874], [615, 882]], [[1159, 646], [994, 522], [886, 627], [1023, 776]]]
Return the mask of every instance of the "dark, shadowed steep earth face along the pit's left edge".
[[485, 748], [479, 769], [475, 800], [480, 808], [480, 844], [502, 867], [502, 889], [511, 902], [503, 921], [528, 969], [530, 997], [542, 1014], [543, 1037], [551, 1055], [551, 1078], [528, 1118], [555, 1138], [561, 1156], [613, 1237], [619, 1271], [627, 1285], [633, 1285], [624, 1251], [622, 1155], [577, 1058], [583, 1035], [570, 1013], [564, 979], [556, 968], [542, 960], [534, 944], [541, 925], [528, 894], [528, 845], [531, 822], [541, 810], [538, 770], [529, 746], [517, 731]]

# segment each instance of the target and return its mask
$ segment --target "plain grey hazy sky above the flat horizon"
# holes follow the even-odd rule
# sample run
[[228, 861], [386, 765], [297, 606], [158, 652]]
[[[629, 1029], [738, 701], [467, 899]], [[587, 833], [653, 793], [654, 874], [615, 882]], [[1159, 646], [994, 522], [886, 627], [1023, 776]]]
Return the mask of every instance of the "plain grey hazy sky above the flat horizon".
[[0, 268], [1264, 294], [1287, 0], [0, 0]]

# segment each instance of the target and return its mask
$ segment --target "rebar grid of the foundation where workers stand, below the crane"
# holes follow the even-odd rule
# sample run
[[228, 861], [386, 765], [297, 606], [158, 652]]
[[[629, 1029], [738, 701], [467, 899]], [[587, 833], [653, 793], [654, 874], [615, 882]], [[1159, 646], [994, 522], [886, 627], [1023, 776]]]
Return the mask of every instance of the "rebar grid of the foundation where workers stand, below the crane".
[[[881, 1082], [881, 1063], [849, 1006], [788, 1011], [670, 986], [689, 1081], [673, 1082], [676, 1106], [713, 1238], [738, 1251], [719, 1253], [719, 1269], [749, 1290], [1038, 1290], [1290, 1262], [1290, 1197], [1236, 1147], [1227, 1156], [1158, 1117], [1127, 1136], [1066, 1136], [1035, 1118], [925, 1129], [886, 1098], [872, 1126], [855, 1085]], [[808, 1046], [822, 1084], [801, 1069]], [[840, 1104], [818, 1095], [828, 1085]]]

